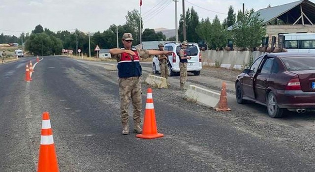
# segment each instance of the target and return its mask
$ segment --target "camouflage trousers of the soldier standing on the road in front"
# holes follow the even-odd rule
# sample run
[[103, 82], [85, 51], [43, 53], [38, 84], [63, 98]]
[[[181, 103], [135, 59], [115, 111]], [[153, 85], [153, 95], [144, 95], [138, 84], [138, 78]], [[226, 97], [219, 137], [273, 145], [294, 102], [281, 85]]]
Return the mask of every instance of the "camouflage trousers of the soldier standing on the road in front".
[[140, 77], [119, 78], [120, 110], [123, 125], [128, 124], [128, 109], [130, 100], [133, 105], [133, 120], [141, 122], [141, 83]]

